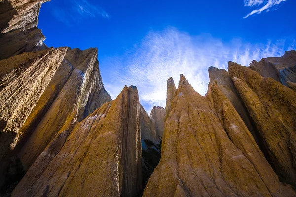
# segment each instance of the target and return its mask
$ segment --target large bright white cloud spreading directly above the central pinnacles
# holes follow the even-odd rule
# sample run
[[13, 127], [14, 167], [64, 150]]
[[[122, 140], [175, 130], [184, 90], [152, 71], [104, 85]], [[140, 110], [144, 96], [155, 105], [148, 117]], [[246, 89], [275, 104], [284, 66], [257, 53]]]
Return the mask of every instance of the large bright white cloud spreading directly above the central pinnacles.
[[295, 41], [286, 40], [250, 44], [240, 39], [225, 43], [210, 34], [191, 36], [176, 28], [167, 28], [151, 31], [124, 55], [101, 60], [100, 69], [112, 99], [124, 85], [136, 85], [140, 103], [150, 112], [153, 105], [165, 106], [169, 77], [178, 85], [182, 73], [198, 93], [205, 95], [209, 66], [227, 69], [228, 61], [248, 66], [252, 60], [281, 56], [294, 44]]

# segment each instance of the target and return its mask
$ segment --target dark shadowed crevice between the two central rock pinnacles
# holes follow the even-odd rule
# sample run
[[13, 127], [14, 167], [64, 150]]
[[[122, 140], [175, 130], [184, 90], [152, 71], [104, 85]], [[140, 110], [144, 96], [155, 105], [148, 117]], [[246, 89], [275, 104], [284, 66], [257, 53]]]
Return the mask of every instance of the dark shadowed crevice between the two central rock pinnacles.
[[141, 197], [146, 184], [157, 167], [161, 155], [161, 141], [158, 144], [144, 139], [142, 140], [142, 190], [138, 197]]

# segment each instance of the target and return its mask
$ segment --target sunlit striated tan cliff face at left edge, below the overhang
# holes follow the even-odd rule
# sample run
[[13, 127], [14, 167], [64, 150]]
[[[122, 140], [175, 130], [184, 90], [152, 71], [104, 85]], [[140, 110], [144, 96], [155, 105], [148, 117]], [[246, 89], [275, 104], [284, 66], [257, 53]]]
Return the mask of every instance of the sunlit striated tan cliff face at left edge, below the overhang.
[[60, 66], [66, 48], [23, 53], [0, 61], [0, 159]]

